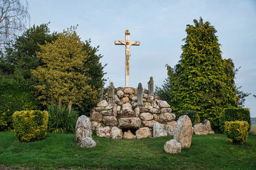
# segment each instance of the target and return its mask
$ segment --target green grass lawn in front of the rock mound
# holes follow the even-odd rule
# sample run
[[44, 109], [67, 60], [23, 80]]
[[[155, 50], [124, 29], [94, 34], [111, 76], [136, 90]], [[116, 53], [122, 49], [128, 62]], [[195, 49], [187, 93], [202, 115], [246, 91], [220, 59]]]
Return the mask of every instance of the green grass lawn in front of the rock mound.
[[93, 136], [97, 146], [84, 149], [74, 134], [48, 133], [42, 141], [20, 143], [14, 132], [0, 132], [0, 164], [31, 169], [256, 169], [256, 136], [246, 145], [231, 145], [224, 134], [193, 135], [181, 153], [163, 150], [171, 136], [106, 139]]

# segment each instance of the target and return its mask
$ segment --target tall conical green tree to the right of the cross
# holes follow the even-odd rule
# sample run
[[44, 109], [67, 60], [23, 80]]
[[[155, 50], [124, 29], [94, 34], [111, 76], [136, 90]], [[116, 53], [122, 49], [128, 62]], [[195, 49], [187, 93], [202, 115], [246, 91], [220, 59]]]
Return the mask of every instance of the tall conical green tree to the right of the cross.
[[168, 66], [173, 111], [194, 110], [219, 130], [223, 108], [237, 106], [232, 60], [222, 59], [216, 29], [202, 18], [187, 25], [179, 63]]

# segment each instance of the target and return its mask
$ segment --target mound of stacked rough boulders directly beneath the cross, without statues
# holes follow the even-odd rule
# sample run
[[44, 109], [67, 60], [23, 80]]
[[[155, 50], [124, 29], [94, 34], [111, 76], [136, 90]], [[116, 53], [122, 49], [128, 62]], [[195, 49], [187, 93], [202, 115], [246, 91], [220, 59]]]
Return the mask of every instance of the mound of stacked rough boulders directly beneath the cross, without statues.
[[[141, 94], [142, 95], [142, 94]], [[97, 136], [112, 139], [141, 139], [173, 135], [177, 122], [170, 105], [143, 92], [138, 106], [137, 89], [118, 89], [112, 103], [108, 94], [90, 113]]]

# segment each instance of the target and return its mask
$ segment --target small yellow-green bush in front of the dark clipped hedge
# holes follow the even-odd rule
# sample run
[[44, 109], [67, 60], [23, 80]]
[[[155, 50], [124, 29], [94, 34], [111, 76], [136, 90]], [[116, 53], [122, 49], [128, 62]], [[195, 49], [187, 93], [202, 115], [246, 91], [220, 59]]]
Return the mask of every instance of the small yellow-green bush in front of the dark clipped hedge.
[[249, 124], [246, 121], [225, 122], [225, 135], [231, 143], [243, 144], [248, 138]]

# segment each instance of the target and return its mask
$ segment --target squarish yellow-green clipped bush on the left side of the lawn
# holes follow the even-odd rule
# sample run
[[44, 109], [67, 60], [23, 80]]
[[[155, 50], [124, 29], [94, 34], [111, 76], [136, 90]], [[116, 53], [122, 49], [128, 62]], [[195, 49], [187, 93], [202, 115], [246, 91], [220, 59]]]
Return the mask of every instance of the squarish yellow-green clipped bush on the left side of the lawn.
[[47, 111], [15, 111], [12, 117], [15, 136], [20, 141], [29, 142], [45, 137], [49, 119]]

